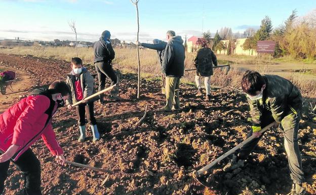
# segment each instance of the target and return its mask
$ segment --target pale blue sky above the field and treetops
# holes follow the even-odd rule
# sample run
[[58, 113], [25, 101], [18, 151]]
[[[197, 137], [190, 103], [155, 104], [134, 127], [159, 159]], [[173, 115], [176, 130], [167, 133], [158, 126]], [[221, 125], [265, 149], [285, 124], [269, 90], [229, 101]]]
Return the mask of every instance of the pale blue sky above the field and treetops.
[[[80, 41], [96, 41], [103, 30], [111, 38], [136, 40], [136, 9], [130, 0], [0, 0], [0, 39], [74, 40], [68, 21], [75, 20]], [[279, 26], [297, 9], [303, 16], [316, 8], [315, 0], [139, 0], [140, 41], [165, 40], [166, 31], [201, 35], [231, 27], [243, 33], [259, 27], [265, 15]]]

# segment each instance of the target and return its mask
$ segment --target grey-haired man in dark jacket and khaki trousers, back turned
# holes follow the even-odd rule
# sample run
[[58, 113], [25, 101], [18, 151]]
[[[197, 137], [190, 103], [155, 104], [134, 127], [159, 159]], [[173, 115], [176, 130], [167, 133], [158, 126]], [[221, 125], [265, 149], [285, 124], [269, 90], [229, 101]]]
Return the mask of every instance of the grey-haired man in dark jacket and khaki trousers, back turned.
[[[184, 46], [180, 36], [169, 30], [167, 32], [168, 44], [165, 48], [162, 62], [162, 73], [166, 75], [166, 99], [167, 104], [160, 109], [163, 112], [171, 112], [180, 109], [179, 86], [180, 78], [184, 75]], [[173, 107], [172, 107], [173, 106]]]

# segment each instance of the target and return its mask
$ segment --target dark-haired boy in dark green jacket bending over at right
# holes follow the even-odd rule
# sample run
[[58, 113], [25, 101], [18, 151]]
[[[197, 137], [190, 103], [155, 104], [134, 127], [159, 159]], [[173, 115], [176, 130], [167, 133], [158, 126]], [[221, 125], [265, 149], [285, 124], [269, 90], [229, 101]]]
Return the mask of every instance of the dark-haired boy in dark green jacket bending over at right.
[[297, 143], [303, 105], [300, 91], [290, 81], [280, 76], [260, 75], [254, 71], [248, 71], [243, 77], [242, 88], [247, 94], [253, 122], [247, 138], [253, 134], [256, 138], [245, 144], [238, 155], [233, 155], [232, 160], [224, 167], [224, 171], [243, 167], [245, 159], [263, 136], [259, 133], [261, 128], [276, 121], [284, 136], [284, 146], [293, 180], [291, 194], [304, 194], [305, 188], [302, 187], [304, 173]]

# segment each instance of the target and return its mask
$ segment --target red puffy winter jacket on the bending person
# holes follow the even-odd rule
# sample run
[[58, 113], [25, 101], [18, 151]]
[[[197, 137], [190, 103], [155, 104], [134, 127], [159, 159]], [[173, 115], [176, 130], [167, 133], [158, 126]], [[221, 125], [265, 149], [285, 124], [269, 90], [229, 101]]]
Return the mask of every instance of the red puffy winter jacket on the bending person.
[[16, 161], [41, 136], [53, 155], [63, 154], [56, 140], [51, 120], [45, 126], [50, 99], [45, 95], [28, 96], [0, 115], [0, 150], [20, 146], [12, 157]]

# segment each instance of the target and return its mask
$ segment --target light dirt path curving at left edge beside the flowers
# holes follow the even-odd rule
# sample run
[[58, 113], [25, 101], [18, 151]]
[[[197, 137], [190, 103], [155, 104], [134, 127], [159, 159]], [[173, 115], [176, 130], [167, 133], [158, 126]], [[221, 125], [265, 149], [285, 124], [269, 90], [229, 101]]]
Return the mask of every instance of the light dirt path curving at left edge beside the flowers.
[[0, 113], [2, 113], [9, 105], [17, 102], [17, 100], [27, 94], [28, 90], [32, 87], [32, 80], [25, 72], [6, 67], [4, 63], [1, 64], [0, 70], [14, 71], [16, 73], [16, 79], [12, 83], [13, 91], [8, 87], [5, 95], [0, 94]]

